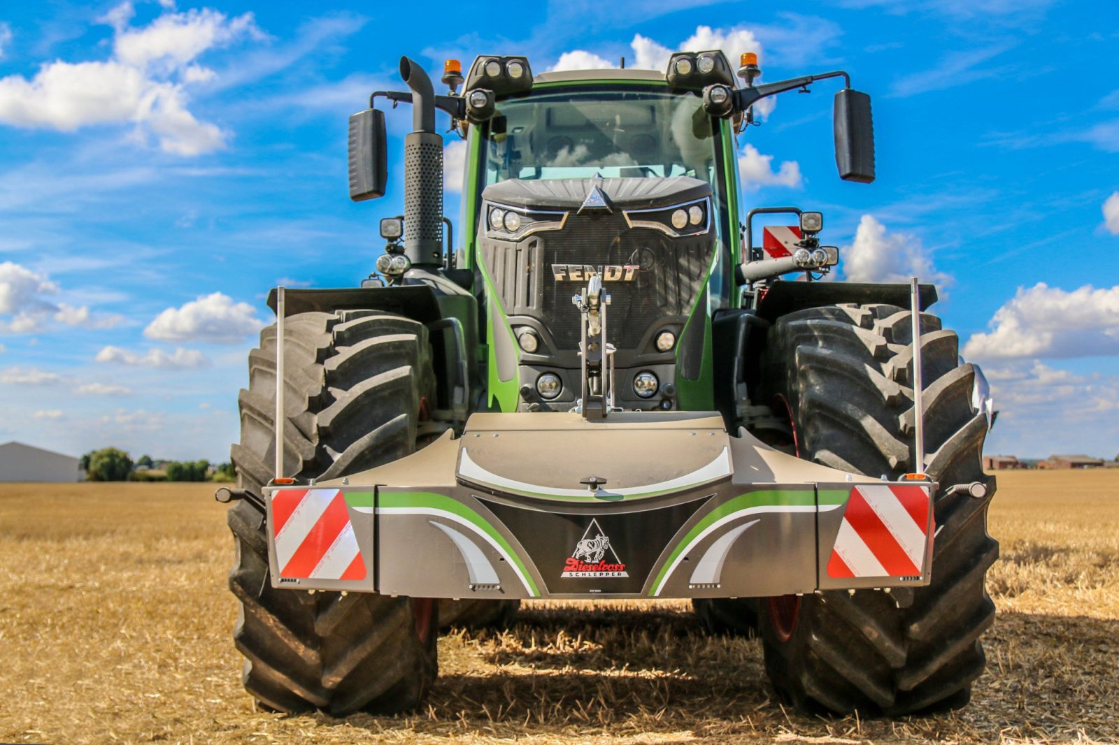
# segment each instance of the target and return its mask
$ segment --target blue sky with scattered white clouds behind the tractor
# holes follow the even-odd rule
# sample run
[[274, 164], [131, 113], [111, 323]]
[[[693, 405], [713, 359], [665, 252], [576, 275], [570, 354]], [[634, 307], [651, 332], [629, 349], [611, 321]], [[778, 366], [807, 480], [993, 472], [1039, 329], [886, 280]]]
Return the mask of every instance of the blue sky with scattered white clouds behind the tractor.
[[0, 441], [227, 460], [269, 287], [355, 285], [399, 211], [408, 112], [379, 202], [348, 200], [345, 133], [401, 87], [401, 55], [434, 76], [478, 54], [544, 70], [749, 47], [763, 81], [852, 74], [878, 180], [836, 178], [821, 84], [740, 138], [743, 204], [822, 209], [840, 276], [940, 282], [1002, 411], [988, 452], [1119, 452], [1115, 3], [485, 7], [0, 6]]

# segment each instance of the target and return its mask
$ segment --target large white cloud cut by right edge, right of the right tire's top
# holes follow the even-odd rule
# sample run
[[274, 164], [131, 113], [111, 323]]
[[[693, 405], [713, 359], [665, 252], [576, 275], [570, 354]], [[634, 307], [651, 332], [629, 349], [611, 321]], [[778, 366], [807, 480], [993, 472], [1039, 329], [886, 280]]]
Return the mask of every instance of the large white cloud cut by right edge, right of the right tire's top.
[[963, 347], [977, 359], [1119, 355], [1119, 285], [1072, 292], [1038, 282], [995, 311], [988, 333]]

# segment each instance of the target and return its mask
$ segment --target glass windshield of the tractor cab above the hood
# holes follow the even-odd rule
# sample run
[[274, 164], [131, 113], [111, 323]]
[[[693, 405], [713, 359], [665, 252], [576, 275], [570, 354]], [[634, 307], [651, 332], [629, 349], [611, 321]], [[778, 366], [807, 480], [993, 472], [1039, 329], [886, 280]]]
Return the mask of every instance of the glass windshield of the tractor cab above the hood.
[[617, 85], [534, 93], [498, 102], [482, 139], [487, 186], [595, 175], [715, 177], [715, 132], [694, 94]]

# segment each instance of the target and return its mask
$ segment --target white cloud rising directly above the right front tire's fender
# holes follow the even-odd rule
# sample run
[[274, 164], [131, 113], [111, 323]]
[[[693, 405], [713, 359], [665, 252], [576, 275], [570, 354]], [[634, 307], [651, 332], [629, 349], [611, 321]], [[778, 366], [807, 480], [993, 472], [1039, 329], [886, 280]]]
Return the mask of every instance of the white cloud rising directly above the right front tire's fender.
[[871, 215], [863, 215], [855, 242], [839, 251], [844, 276], [852, 282], [921, 282], [939, 285], [952, 277], [938, 272], [921, 239], [906, 233], [887, 233], [886, 226]]

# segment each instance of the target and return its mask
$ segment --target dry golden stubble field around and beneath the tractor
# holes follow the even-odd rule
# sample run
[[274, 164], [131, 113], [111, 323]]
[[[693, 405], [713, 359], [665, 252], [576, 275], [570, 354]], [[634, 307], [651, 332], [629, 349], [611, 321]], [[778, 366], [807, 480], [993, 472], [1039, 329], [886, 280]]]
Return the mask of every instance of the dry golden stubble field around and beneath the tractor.
[[211, 494], [0, 484], [0, 741], [1119, 742], [1119, 471], [999, 475], [988, 672], [969, 708], [895, 722], [783, 710], [759, 642], [703, 635], [679, 602], [535, 602], [448, 635], [410, 717], [257, 711]]

